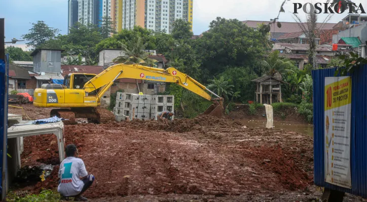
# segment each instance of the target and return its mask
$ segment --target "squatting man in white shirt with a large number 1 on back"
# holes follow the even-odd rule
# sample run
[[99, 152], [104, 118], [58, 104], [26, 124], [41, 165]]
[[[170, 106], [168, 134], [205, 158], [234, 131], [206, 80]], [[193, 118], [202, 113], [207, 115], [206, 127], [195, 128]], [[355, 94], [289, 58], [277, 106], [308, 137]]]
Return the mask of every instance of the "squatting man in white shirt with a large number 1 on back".
[[82, 196], [93, 183], [94, 176], [88, 175], [83, 160], [74, 144], [68, 144], [65, 149], [66, 159], [60, 164], [60, 183], [57, 191], [63, 197], [75, 197], [75, 201], [88, 201]]

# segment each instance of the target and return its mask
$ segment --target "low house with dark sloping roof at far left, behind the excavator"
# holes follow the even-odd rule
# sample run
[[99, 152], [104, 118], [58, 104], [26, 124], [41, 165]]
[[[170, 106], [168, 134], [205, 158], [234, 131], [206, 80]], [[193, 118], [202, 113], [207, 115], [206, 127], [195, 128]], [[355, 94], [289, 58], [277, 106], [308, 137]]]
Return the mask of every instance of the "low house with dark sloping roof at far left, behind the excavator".
[[27, 69], [14, 64], [9, 65], [9, 93], [16, 90], [17, 92], [27, 92], [30, 95], [33, 95], [35, 88], [36, 79], [29, 75]]

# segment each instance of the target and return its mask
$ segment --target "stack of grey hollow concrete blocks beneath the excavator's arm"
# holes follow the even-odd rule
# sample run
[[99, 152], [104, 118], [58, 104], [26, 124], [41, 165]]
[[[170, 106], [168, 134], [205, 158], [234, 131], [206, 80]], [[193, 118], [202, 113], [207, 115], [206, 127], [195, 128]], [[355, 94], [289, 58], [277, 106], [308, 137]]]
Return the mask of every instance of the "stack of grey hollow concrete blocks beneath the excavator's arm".
[[[115, 120], [157, 120], [160, 112], [174, 110], [174, 95], [139, 95], [118, 92], [114, 108]], [[172, 117], [173, 118], [173, 117]]]

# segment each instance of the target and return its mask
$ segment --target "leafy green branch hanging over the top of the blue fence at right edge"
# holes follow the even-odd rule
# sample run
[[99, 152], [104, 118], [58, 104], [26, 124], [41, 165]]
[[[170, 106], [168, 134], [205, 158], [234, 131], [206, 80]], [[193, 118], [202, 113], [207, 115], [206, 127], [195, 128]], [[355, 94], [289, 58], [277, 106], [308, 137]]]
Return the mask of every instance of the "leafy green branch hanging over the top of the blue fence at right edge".
[[338, 67], [335, 71], [335, 76], [339, 73], [341, 76], [346, 76], [348, 73], [352, 74], [357, 68], [367, 64], [367, 59], [358, 57], [358, 54], [353, 52], [350, 52], [350, 56], [342, 55], [339, 58], [344, 61], [343, 67], [345, 68]]

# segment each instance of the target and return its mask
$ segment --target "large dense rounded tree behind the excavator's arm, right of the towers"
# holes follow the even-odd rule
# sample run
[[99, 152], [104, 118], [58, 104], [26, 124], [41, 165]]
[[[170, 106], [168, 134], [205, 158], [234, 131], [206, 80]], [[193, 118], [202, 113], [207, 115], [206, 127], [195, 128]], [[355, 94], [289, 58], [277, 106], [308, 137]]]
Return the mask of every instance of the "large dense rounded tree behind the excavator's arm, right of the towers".
[[253, 67], [270, 49], [267, 37], [237, 19], [217, 17], [209, 28], [194, 45], [201, 59], [204, 82], [224, 72], [224, 67]]

